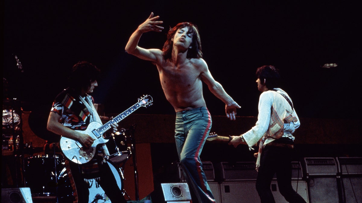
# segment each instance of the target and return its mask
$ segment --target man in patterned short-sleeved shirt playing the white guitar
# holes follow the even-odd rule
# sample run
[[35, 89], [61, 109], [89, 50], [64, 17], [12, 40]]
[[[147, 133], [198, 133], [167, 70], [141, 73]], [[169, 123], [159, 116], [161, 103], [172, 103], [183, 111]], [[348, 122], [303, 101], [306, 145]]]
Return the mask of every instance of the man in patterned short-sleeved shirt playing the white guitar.
[[[47, 129], [63, 137], [78, 141], [84, 148], [89, 148], [95, 141], [88, 134], [81, 133], [87, 129], [90, 122], [102, 123], [96, 109], [92, 96], [88, 95], [98, 86], [97, 79], [100, 70], [87, 61], [81, 61], [73, 66], [69, 79], [69, 87], [56, 96], [49, 114]], [[110, 131], [117, 131], [117, 124], [111, 124]], [[108, 164], [105, 164], [105, 155], [109, 155], [105, 144], [99, 144], [94, 158], [85, 165], [69, 161], [70, 170], [75, 183], [75, 200], [79, 203], [89, 202], [89, 185], [85, 179], [96, 178], [105, 194], [111, 202], [126, 202], [121, 188], [111, 172]], [[78, 156], [78, 155], [75, 155]], [[98, 164], [99, 172], [87, 177], [82, 173], [82, 168]], [[88, 174], [89, 176], [89, 174]], [[99, 177], [96, 177], [99, 176]], [[76, 201], [74, 201], [76, 202]]]

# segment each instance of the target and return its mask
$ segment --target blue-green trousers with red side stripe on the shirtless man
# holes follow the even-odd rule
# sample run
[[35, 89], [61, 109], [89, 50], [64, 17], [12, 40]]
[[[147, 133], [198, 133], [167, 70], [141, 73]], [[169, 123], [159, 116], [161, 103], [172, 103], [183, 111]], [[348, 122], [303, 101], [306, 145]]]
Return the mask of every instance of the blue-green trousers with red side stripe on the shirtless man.
[[[200, 154], [211, 129], [211, 116], [206, 107], [176, 113], [175, 142], [186, 182], [199, 203], [214, 202]], [[193, 203], [197, 202], [193, 199]]]

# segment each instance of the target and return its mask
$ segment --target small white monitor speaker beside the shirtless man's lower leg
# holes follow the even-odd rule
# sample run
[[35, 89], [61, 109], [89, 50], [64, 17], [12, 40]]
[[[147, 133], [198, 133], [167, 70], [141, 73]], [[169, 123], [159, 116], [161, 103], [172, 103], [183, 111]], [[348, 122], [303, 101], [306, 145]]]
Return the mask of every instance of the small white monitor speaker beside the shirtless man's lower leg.
[[191, 201], [191, 194], [187, 183], [161, 183], [166, 202], [184, 203]]

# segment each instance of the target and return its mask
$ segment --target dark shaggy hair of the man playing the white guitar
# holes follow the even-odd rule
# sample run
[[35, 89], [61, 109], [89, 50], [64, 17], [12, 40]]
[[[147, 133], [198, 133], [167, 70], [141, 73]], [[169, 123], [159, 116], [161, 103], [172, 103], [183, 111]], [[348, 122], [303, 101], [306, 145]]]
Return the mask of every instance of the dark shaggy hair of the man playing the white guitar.
[[90, 83], [98, 79], [99, 73], [100, 70], [95, 65], [87, 61], [77, 62], [73, 65], [72, 73], [68, 78], [69, 87], [77, 92], [81, 92], [82, 89], [87, 90]]

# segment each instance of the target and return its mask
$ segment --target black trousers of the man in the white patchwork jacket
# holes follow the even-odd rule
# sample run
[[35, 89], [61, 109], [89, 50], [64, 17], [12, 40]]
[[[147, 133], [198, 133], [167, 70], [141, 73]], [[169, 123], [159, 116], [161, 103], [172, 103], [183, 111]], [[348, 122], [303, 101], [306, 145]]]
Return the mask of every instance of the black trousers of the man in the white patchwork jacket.
[[291, 185], [291, 161], [294, 153], [295, 150], [288, 147], [265, 146], [263, 148], [256, 179], [256, 190], [261, 203], [275, 203], [270, 190], [274, 174], [277, 175], [279, 191], [287, 202], [306, 202], [302, 196], [294, 191]]

